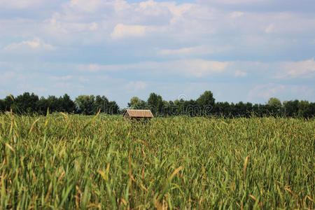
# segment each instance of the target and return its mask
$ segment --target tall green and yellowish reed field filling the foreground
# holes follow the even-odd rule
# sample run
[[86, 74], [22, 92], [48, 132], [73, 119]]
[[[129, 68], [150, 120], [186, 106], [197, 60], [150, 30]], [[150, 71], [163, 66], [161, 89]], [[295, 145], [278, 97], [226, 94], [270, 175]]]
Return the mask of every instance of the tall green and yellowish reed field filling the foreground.
[[0, 115], [0, 209], [313, 209], [314, 120]]

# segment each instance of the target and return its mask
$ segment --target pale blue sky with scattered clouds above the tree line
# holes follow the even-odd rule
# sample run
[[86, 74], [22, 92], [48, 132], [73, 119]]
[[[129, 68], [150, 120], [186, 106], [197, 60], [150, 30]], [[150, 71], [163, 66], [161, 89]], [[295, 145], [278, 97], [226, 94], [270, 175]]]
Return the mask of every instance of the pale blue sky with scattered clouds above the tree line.
[[0, 0], [0, 98], [315, 100], [314, 0]]

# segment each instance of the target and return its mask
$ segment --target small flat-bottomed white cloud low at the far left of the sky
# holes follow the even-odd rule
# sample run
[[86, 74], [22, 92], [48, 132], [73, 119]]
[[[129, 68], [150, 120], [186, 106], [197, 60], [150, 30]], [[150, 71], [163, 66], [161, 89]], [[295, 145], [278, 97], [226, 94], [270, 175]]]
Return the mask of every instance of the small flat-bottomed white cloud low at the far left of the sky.
[[11, 43], [4, 50], [55, 50], [56, 48], [43, 42], [40, 38], [34, 38], [32, 41], [21, 41], [20, 43]]

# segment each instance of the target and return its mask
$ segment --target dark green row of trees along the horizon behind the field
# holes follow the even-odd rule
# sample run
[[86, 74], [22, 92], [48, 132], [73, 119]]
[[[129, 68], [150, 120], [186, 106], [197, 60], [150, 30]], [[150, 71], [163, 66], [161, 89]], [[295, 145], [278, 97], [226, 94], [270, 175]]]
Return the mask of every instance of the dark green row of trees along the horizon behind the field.
[[[80, 113], [93, 115], [101, 110], [102, 113], [118, 114], [120, 109], [116, 102], [111, 102], [104, 96], [80, 95], [73, 101], [68, 94], [62, 97], [49, 96], [39, 98], [34, 93], [25, 92], [13, 97], [8, 95], [0, 99], [0, 112], [13, 111], [14, 113], [46, 114], [48, 111]], [[283, 116], [314, 118], [315, 103], [307, 101], [285, 101], [270, 98], [267, 104], [251, 104], [239, 102], [216, 102], [211, 91], [206, 91], [196, 100], [176, 99], [165, 101], [158, 94], [151, 93], [146, 101], [132, 97], [128, 109], [151, 109], [155, 116], [223, 116], [223, 117], [250, 117], [250, 116]]]

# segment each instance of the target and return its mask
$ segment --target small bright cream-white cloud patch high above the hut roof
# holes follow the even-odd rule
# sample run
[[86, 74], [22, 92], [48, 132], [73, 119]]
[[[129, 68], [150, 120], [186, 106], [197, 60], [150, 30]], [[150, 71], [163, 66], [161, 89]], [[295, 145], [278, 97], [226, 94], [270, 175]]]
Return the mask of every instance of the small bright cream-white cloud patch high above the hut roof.
[[123, 38], [125, 36], [136, 36], [141, 37], [146, 34], [146, 31], [148, 30], [148, 27], [143, 25], [123, 25], [118, 24], [113, 29], [113, 33], [111, 33], [112, 38]]

